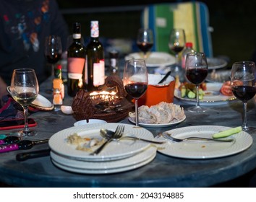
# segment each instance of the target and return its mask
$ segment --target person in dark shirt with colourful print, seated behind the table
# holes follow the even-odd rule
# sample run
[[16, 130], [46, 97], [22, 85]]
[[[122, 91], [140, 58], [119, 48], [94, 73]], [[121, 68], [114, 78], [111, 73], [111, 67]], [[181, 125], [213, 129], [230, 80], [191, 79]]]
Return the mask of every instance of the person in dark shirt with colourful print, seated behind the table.
[[63, 52], [67, 50], [69, 31], [55, 0], [0, 1], [0, 99], [7, 94], [14, 69], [35, 69], [39, 83], [47, 78], [48, 35], [59, 35]]

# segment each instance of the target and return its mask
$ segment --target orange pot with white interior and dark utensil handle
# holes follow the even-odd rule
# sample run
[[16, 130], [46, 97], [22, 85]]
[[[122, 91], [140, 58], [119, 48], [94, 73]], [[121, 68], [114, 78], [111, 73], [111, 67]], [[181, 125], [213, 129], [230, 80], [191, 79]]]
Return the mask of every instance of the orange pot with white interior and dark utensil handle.
[[148, 89], [138, 100], [138, 105], [157, 105], [159, 102], [174, 102], [174, 76], [168, 76], [163, 84], [157, 84], [163, 75], [148, 74]]

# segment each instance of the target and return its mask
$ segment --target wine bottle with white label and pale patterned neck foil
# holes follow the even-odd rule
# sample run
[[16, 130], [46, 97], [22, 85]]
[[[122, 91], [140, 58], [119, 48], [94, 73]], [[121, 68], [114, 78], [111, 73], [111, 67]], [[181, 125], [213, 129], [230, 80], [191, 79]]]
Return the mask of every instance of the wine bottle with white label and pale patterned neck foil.
[[105, 83], [104, 48], [99, 41], [98, 21], [90, 22], [90, 42], [87, 47], [87, 90], [97, 91]]

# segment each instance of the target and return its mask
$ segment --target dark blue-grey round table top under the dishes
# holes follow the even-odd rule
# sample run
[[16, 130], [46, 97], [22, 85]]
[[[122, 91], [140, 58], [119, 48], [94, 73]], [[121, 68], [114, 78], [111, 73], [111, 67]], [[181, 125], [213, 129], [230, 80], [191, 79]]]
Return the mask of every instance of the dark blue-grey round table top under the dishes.
[[[52, 95], [44, 92], [45, 83], [40, 85], [40, 95], [52, 100]], [[73, 97], [67, 94], [64, 105], [72, 105]], [[242, 102], [235, 100], [224, 105], [207, 106], [205, 113], [189, 113], [187, 106], [179, 100], [174, 103], [184, 107], [186, 120], [165, 128], [146, 128], [156, 136], [161, 131], [185, 126], [241, 126]], [[31, 140], [49, 139], [54, 133], [72, 127], [76, 121], [73, 115], [61, 111], [38, 111], [32, 113], [38, 123], [38, 134]], [[251, 100], [247, 112], [248, 124], [255, 126], [255, 100]], [[124, 118], [119, 123], [130, 123]], [[2, 131], [10, 132], [10, 131]], [[183, 159], [157, 153], [149, 164], [135, 170], [114, 174], [88, 175], [61, 170], [54, 166], [51, 157], [16, 160], [16, 155], [27, 150], [10, 151], [0, 154], [0, 182], [17, 187], [211, 187], [234, 180], [256, 168], [256, 134], [249, 149], [228, 157], [213, 159]], [[48, 149], [48, 144], [34, 146], [29, 151]]]

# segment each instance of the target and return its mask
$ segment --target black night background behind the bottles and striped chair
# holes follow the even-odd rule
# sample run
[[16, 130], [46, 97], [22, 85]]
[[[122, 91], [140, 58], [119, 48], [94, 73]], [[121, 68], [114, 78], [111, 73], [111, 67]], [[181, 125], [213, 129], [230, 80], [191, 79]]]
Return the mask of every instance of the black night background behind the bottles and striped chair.
[[[90, 35], [90, 20], [98, 19], [103, 38], [135, 38], [140, 27], [140, 8], [146, 4], [182, 2], [165, 0], [84, 1], [57, 0], [70, 29], [82, 23], [82, 34]], [[230, 63], [250, 60], [256, 48], [255, 1], [202, 1], [208, 5], [214, 56], [229, 56]], [[129, 11], [127, 11], [129, 10]]]

